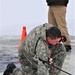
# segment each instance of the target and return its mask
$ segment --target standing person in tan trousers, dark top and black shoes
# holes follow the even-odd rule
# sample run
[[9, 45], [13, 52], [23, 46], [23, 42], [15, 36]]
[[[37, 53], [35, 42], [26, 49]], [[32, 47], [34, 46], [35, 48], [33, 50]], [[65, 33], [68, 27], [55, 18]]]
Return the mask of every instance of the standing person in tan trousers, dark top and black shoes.
[[60, 29], [62, 35], [64, 35], [67, 39], [64, 43], [66, 51], [71, 51], [71, 41], [65, 20], [66, 7], [69, 0], [46, 0], [46, 2], [49, 6], [48, 22]]

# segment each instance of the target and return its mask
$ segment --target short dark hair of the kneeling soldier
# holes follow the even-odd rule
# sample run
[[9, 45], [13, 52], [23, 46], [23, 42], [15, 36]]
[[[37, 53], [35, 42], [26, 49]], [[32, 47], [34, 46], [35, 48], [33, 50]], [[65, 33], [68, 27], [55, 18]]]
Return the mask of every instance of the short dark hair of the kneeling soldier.
[[61, 32], [57, 27], [51, 27], [46, 30], [46, 37], [51, 39], [61, 38]]

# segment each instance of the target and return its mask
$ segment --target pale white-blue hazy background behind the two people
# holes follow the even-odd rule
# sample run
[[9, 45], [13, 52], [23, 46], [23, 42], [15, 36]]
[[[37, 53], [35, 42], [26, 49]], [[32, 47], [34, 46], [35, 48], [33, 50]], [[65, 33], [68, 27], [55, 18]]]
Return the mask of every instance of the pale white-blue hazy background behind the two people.
[[[75, 0], [69, 0], [67, 6], [66, 21], [70, 35], [75, 35], [74, 3]], [[0, 36], [21, 35], [23, 26], [29, 33], [34, 27], [48, 22], [47, 13], [46, 0], [0, 0]]]

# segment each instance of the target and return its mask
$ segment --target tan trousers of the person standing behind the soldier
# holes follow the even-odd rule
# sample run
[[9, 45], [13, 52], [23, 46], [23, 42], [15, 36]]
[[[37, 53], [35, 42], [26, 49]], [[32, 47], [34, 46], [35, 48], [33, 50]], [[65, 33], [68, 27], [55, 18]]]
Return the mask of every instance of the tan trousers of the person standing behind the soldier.
[[[50, 12], [50, 13], [49, 13]], [[48, 12], [48, 22], [54, 26], [58, 26], [62, 35], [67, 39], [65, 45], [71, 45], [68, 29], [66, 25], [66, 7], [65, 6], [51, 6]]]

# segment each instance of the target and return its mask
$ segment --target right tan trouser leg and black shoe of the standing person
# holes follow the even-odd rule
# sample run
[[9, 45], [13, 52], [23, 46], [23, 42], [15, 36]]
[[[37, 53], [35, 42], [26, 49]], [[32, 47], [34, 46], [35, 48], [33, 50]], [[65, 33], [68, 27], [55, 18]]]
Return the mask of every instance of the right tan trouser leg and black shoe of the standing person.
[[71, 50], [71, 41], [70, 36], [68, 34], [68, 29], [66, 25], [66, 7], [65, 6], [54, 6], [52, 7], [53, 13], [56, 19], [56, 23], [58, 28], [60, 29], [62, 35], [64, 35], [67, 39], [65, 42], [66, 50]]

